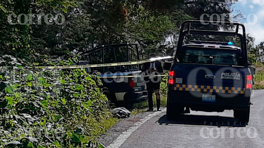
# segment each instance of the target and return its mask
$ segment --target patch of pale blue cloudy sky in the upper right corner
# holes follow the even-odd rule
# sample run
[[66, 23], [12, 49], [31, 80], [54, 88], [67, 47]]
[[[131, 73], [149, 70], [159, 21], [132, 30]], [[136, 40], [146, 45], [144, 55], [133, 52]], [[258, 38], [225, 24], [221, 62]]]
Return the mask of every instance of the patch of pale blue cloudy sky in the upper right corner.
[[241, 19], [234, 19], [234, 21], [244, 23], [246, 33], [255, 38], [255, 45], [264, 42], [264, 0], [238, 0], [232, 9], [233, 15], [239, 12], [245, 14], [241, 16]]

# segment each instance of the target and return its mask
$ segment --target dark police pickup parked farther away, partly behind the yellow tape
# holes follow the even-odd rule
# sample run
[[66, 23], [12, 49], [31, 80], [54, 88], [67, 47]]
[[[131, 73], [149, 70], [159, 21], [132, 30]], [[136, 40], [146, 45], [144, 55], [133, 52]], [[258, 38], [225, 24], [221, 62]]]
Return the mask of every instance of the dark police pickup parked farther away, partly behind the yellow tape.
[[[88, 73], [100, 77], [103, 93], [117, 107], [133, 107], [148, 99], [146, 85], [140, 78], [140, 64], [127, 64], [143, 60], [141, 48], [137, 43], [103, 45], [82, 53], [79, 65], [99, 65], [86, 68]], [[122, 63], [112, 66], [111, 64]], [[105, 65], [105, 66], [104, 66]]]

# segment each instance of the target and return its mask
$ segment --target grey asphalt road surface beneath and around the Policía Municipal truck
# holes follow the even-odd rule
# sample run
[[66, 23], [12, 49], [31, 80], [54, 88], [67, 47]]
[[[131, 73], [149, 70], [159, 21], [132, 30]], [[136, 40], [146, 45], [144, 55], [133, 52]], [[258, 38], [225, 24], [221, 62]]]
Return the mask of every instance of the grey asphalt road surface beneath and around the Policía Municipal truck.
[[[166, 113], [163, 112], [144, 122], [118, 147], [263, 148], [264, 90], [254, 90], [251, 102], [253, 105], [251, 106], [248, 125], [240, 125], [237, 119], [233, 117], [233, 110], [220, 113], [191, 111], [190, 114], [181, 115], [177, 121], [168, 121]], [[139, 117], [134, 118], [140, 119]], [[113, 129], [118, 129], [120, 126], [132, 126], [128, 121], [131, 119], [121, 121]], [[110, 130], [110, 132], [112, 131]], [[115, 132], [120, 134], [121, 131], [116, 130]], [[108, 146], [113, 142], [109, 138], [116, 138], [116, 136], [106, 134], [101, 140], [102, 143]], [[108, 142], [106, 142], [107, 139]]]

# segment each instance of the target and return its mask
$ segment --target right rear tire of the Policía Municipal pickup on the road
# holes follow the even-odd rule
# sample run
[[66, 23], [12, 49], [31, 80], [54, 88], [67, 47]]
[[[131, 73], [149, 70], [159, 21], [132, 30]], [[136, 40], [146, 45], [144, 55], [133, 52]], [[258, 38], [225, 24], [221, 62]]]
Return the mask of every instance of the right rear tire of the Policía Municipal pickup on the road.
[[243, 110], [234, 110], [234, 117], [238, 119], [241, 124], [247, 124], [249, 121], [250, 105]]

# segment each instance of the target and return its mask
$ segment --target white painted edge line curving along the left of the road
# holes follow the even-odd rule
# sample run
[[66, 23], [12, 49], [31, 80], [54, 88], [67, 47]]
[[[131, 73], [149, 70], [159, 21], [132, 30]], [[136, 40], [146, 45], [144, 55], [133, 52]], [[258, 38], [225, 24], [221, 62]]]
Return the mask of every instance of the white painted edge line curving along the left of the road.
[[122, 132], [122, 134], [120, 134], [113, 143], [107, 146], [107, 148], [119, 148], [129, 138], [129, 136], [134, 131], [136, 131], [142, 124], [144, 124], [146, 121], [153, 118], [154, 116], [161, 114], [162, 112], [166, 112], [166, 108], [161, 111], [156, 111], [153, 114], [149, 114], [143, 119], [140, 119], [138, 122], [134, 123], [133, 126], [129, 127], [128, 130]]

